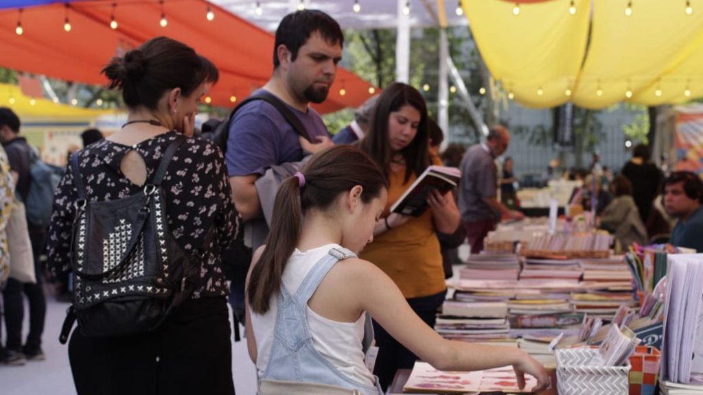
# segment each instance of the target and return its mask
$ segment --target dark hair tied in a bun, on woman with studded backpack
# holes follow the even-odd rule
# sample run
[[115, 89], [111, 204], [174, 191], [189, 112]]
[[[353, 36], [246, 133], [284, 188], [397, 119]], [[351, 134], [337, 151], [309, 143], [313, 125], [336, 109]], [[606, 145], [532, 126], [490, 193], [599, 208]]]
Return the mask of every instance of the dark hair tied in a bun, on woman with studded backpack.
[[169, 89], [181, 88], [183, 96], [190, 96], [203, 82], [219, 79], [212, 62], [168, 37], [155, 37], [122, 58], [112, 58], [102, 73], [110, 79], [110, 89], [122, 89], [127, 107], [149, 110], [156, 110]]

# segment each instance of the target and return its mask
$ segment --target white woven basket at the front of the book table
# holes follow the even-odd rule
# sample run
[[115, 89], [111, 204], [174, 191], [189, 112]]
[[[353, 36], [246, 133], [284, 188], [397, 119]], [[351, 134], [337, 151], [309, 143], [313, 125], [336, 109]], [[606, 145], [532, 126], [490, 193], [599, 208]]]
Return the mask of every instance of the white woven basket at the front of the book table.
[[627, 395], [630, 363], [625, 366], [599, 366], [598, 349], [579, 347], [557, 349], [557, 389], [559, 395]]

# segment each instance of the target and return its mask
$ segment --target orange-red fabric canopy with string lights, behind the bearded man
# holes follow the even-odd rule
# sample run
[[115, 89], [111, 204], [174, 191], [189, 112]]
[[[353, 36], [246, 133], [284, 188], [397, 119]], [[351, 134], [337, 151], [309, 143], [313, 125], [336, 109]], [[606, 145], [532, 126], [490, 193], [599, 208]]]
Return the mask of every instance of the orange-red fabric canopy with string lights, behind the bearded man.
[[[165, 27], [160, 25], [162, 14]], [[16, 32], [18, 23], [21, 35]], [[212, 105], [233, 107], [271, 77], [273, 34], [205, 0], [94, 0], [1, 10], [0, 66], [105, 84], [100, 70], [112, 56], [160, 35], [193, 46], [217, 65], [220, 80], [210, 92]], [[322, 113], [356, 107], [371, 96], [372, 87], [340, 68], [327, 101], [314, 107]]]

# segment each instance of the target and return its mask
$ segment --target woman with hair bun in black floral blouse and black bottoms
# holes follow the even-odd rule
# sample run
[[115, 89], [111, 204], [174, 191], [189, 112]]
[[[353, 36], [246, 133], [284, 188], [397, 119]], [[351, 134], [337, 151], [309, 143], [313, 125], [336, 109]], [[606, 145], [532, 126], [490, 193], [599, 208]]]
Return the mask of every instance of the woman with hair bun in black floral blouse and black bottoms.
[[[111, 89], [122, 91], [129, 113], [122, 129], [75, 154], [85, 199], [135, 195], [153, 181], [167, 148], [175, 148], [161, 182], [167, 229], [200, 267], [192, 294], [153, 330], [91, 337], [79, 323], [68, 346], [77, 393], [234, 394], [221, 249], [238, 237], [239, 219], [221, 151], [191, 137], [198, 103], [217, 82], [217, 68], [193, 48], [156, 37], [112, 58], [103, 73]], [[71, 267], [77, 185], [74, 171], [66, 171], [56, 191], [48, 242], [54, 276]]]

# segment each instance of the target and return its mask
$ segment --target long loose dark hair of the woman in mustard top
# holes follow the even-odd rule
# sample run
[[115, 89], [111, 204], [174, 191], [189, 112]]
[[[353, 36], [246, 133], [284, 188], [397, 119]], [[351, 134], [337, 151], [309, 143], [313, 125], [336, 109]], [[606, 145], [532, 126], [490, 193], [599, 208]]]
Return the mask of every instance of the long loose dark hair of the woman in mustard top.
[[427, 166], [430, 166], [430, 155], [427, 153], [427, 105], [417, 89], [401, 82], [394, 82], [383, 89], [371, 117], [371, 127], [368, 134], [359, 142], [359, 148], [373, 157], [383, 175], [388, 178], [392, 157], [388, 142], [388, 119], [391, 112], [400, 110], [404, 105], [409, 105], [420, 112], [418, 133], [415, 134], [410, 145], [401, 151], [408, 167], [405, 174], [407, 183], [413, 171], [419, 176]]

